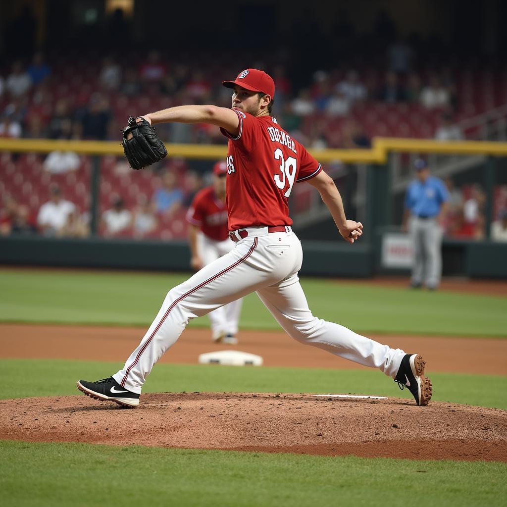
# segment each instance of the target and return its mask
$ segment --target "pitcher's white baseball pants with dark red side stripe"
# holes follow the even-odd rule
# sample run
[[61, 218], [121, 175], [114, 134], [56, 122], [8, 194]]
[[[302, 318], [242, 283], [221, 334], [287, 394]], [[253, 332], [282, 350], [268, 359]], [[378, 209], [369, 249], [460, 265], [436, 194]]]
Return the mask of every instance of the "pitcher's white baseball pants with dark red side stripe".
[[[125, 367], [113, 376], [115, 380], [140, 393], [153, 365], [178, 339], [189, 319], [253, 291], [296, 340], [395, 377], [403, 350], [391, 349], [312, 315], [298, 278], [303, 259], [301, 243], [288, 230], [268, 234], [266, 227], [248, 229], [248, 237], [236, 243], [234, 250], [172, 288]], [[339, 301], [336, 312], [339, 316]]]

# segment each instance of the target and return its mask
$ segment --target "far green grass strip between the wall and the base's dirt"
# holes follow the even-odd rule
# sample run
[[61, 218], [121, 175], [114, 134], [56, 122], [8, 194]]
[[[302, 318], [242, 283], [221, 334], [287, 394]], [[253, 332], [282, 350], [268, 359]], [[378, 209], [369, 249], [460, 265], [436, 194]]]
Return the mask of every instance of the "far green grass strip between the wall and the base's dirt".
[[[185, 273], [0, 270], [0, 321], [106, 325], [151, 323]], [[357, 285], [305, 278], [314, 315], [359, 333], [507, 337], [507, 297]], [[190, 325], [207, 327], [207, 317]], [[244, 329], [279, 329], [255, 294], [245, 298]]]

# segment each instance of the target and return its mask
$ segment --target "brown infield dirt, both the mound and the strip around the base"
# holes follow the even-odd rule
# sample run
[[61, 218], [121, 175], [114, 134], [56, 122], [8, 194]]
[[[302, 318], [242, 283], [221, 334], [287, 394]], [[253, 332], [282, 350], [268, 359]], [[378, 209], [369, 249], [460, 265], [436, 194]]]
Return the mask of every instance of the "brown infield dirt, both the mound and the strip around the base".
[[[0, 325], [0, 357], [121, 360], [140, 328]], [[370, 335], [371, 336], [371, 335]], [[507, 340], [371, 336], [424, 355], [427, 374], [505, 375]], [[162, 358], [196, 364], [221, 350], [188, 329]], [[363, 368], [284, 333], [242, 331], [234, 347], [266, 366]], [[193, 449], [507, 462], [507, 411], [413, 400], [342, 400], [311, 394], [148, 393], [136, 409], [84, 395], [0, 401], [0, 438]]]

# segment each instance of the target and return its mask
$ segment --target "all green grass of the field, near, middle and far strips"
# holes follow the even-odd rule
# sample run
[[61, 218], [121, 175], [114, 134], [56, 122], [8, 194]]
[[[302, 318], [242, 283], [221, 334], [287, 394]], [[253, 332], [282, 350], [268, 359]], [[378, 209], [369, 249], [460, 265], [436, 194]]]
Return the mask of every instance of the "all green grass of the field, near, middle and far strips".
[[[0, 270], [0, 321], [146, 325], [185, 274]], [[507, 298], [303, 280], [319, 317], [359, 332], [507, 337]], [[393, 318], [393, 315], [396, 318]], [[191, 325], [207, 326], [207, 319]], [[255, 295], [243, 328], [277, 329]], [[1, 340], [0, 340], [1, 343]], [[78, 394], [120, 363], [0, 360], [0, 399]], [[434, 374], [433, 400], [507, 409], [507, 377]], [[157, 365], [144, 392], [369, 392], [404, 397], [375, 371]], [[1, 402], [0, 402], [1, 403]], [[1, 438], [1, 436], [0, 436]], [[6, 505], [481, 505], [507, 465], [0, 441]]]

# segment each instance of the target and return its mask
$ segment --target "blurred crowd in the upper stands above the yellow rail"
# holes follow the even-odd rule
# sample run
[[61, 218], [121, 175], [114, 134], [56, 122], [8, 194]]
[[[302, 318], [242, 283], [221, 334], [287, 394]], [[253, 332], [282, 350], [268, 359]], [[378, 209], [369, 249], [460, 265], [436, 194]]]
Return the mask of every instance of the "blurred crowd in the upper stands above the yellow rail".
[[[430, 136], [442, 140], [463, 138], [455, 114], [460, 106], [449, 66], [419, 71], [414, 68], [410, 46], [402, 41], [388, 48], [383, 68], [375, 72], [354, 68], [317, 70], [294, 85], [281, 64], [267, 68], [275, 80], [274, 115], [284, 128], [310, 147], [363, 148], [370, 143], [361, 121], [341, 124], [337, 132], [303, 132], [309, 117], [348, 118], [365, 104], [415, 104], [434, 111], [440, 125]], [[76, 62], [74, 62], [76, 63]], [[123, 64], [113, 56], [83, 63], [77, 75], [69, 75], [65, 62], [54, 66], [35, 53], [30, 62], [15, 60], [0, 70], [0, 136], [50, 139], [117, 140], [126, 122], [128, 107], [138, 114], [146, 107], [184, 103], [230, 106], [230, 91], [222, 79], [237, 70], [224, 67], [192, 67], [169, 64], [152, 50], [138, 64]], [[143, 100], [142, 99], [146, 99]], [[123, 101], [121, 103], [118, 103]], [[162, 134], [173, 142], [223, 143], [218, 129], [209, 126], [165, 125]], [[329, 130], [329, 129], [328, 129]]]

